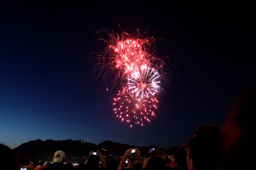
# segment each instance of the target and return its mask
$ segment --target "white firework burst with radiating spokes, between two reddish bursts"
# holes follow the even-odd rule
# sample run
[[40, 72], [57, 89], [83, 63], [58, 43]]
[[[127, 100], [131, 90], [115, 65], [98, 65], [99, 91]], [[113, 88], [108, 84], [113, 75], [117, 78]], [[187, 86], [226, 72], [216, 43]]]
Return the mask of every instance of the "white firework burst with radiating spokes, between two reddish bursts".
[[[136, 71], [137, 70], [137, 71]], [[160, 89], [160, 76], [153, 68], [142, 66], [141, 69], [136, 69], [127, 78], [129, 89], [139, 98], [150, 98], [155, 96]]]

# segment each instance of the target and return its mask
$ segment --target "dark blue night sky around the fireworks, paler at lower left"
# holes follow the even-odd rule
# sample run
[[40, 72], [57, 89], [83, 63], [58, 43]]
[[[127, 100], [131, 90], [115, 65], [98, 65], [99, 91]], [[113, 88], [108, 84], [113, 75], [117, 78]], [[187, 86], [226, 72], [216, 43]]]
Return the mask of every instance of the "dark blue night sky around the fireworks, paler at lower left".
[[[234, 3], [234, 2], [232, 2]], [[169, 148], [197, 127], [223, 125], [233, 100], [256, 84], [252, 4], [175, 4], [168, 1], [0, 2], [0, 143], [31, 140], [110, 140]], [[102, 28], [131, 38], [137, 29], [168, 55], [172, 85], [159, 113], [144, 126], [113, 111], [118, 88], [94, 79], [88, 59]], [[112, 76], [107, 80], [111, 88]], [[118, 86], [117, 86], [118, 87]]]

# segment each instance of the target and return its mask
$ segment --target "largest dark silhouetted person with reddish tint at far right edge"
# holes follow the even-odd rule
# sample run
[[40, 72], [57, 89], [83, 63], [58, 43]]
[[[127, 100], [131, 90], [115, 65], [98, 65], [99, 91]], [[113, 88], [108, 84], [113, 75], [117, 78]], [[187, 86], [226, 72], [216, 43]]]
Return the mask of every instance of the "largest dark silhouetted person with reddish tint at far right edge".
[[218, 170], [255, 168], [256, 86], [242, 90], [223, 124], [222, 157]]

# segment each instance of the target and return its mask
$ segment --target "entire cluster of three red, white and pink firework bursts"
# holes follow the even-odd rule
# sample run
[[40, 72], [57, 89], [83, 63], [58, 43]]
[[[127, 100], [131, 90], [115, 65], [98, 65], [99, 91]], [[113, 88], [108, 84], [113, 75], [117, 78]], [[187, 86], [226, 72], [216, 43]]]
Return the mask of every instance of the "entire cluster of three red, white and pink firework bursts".
[[[93, 75], [97, 79], [103, 75], [107, 86], [107, 76], [114, 78], [113, 86], [120, 83], [121, 90], [114, 98], [114, 113], [123, 122], [144, 125], [156, 115], [158, 97], [164, 88], [171, 85], [169, 76], [168, 56], [158, 57], [154, 37], [140, 37], [131, 39], [125, 31], [121, 36], [117, 33], [102, 29], [96, 33], [100, 35], [98, 44], [104, 45], [102, 52], [96, 54], [96, 67]], [[146, 33], [146, 32], [145, 32]], [[140, 38], [138, 38], [140, 37]], [[108, 90], [108, 87], [107, 87]], [[112, 91], [110, 90], [110, 91]]]

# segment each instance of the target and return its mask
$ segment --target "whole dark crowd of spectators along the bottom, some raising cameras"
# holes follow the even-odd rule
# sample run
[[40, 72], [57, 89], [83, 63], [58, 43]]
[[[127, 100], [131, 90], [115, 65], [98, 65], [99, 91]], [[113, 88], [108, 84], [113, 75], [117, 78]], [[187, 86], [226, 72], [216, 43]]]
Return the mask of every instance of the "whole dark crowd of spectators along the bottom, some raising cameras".
[[[73, 166], [64, 164], [65, 152], [54, 153], [52, 163], [19, 156], [6, 145], [0, 144], [2, 169], [8, 170], [236, 170], [254, 168], [256, 88], [248, 88], [233, 102], [222, 126], [201, 125], [187, 143], [180, 145], [174, 159], [160, 147], [141, 156], [139, 148], [129, 148], [119, 159], [104, 160], [100, 150], [91, 151], [88, 159]], [[130, 159], [130, 156], [135, 156]], [[243, 166], [241, 166], [242, 163]], [[238, 165], [239, 164], [239, 165]]]

